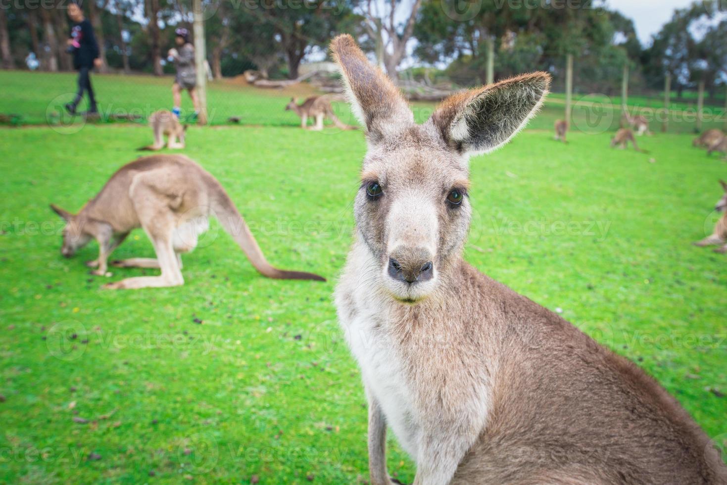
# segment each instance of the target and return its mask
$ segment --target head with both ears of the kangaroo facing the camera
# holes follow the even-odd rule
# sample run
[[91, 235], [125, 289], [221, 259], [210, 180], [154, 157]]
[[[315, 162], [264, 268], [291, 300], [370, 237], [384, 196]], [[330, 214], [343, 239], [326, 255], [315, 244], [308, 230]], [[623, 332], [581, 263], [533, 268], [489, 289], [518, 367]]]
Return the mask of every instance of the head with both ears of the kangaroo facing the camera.
[[542, 104], [550, 76], [532, 73], [453, 95], [418, 125], [351, 36], [338, 36], [331, 48], [366, 127], [354, 213], [371, 254], [369, 274], [397, 300], [417, 302], [446, 284], [461, 257], [472, 211], [469, 157], [507, 143]]

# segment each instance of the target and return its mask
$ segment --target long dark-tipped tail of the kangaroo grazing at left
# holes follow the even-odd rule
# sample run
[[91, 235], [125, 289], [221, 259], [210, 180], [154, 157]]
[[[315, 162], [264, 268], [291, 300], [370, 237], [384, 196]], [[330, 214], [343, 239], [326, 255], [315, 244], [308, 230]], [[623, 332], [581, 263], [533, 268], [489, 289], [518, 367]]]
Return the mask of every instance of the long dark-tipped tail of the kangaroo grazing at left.
[[235, 239], [240, 249], [247, 256], [247, 259], [250, 260], [254, 268], [262, 276], [276, 279], [312, 279], [326, 281], [326, 278], [318, 276], [317, 274], [306, 273], [305, 271], [281, 270], [270, 265], [268, 260], [265, 259], [265, 254], [262, 254], [262, 249], [257, 245], [254, 236], [252, 236], [250, 228], [245, 223], [240, 212], [238, 212], [235, 204], [233, 204], [233, 201], [230, 200], [230, 197], [221, 186], [218, 185], [218, 189], [217, 195], [212, 200], [212, 209], [217, 219], [220, 220], [220, 225]]

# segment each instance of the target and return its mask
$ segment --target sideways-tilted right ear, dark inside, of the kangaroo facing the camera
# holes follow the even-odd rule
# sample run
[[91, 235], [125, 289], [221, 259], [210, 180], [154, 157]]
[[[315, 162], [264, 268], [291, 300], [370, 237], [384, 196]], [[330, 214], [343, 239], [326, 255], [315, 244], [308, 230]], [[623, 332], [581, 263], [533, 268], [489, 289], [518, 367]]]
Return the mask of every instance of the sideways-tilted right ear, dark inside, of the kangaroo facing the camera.
[[448, 97], [432, 114], [446, 143], [463, 155], [505, 145], [537, 113], [550, 87], [550, 74], [523, 74]]

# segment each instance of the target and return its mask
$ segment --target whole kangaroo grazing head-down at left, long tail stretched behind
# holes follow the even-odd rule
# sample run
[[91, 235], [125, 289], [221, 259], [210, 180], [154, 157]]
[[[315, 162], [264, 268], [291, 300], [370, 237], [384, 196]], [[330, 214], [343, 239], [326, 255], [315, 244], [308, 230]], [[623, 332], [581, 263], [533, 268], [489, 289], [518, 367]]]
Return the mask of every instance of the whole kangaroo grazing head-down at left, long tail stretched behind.
[[98, 241], [98, 257], [86, 265], [95, 268], [92, 273], [99, 276], [106, 274], [109, 255], [132, 229], [143, 228], [147, 233], [156, 259], [134, 257], [111, 264], [119, 268], [161, 268], [161, 276], [126, 278], [105, 284], [104, 288], [184, 284], [181, 254], [195, 248], [212, 216], [263, 276], [326, 281], [313, 273], [273, 268], [222, 185], [185, 156], [147, 156], [124, 165], [77, 215], [55, 205], [51, 209], [66, 222], [60, 249], [63, 256], [73, 256], [92, 239]]

